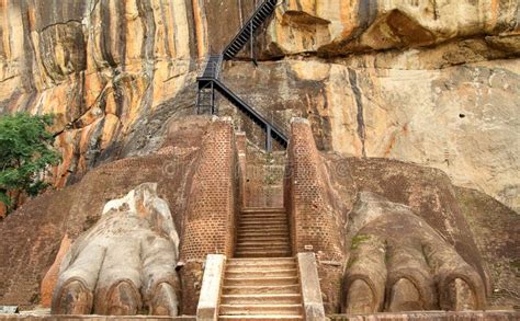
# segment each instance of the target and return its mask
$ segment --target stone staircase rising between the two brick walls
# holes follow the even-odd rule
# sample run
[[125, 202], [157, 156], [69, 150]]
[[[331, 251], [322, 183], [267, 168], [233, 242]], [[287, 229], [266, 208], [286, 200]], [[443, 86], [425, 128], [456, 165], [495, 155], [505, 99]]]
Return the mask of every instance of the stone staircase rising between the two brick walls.
[[235, 257], [227, 260], [221, 320], [303, 320], [296, 259], [283, 208], [241, 211]]

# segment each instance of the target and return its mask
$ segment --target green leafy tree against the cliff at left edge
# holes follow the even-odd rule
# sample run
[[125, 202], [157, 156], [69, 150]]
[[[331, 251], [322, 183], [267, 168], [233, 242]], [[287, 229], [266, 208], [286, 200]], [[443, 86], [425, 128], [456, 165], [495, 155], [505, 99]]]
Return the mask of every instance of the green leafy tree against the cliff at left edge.
[[0, 117], [0, 200], [9, 209], [16, 207], [11, 193], [37, 195], [47, 186], [43, 176], [48, 165], [59, 163], [60, 157], [52, 148], [54, 137], [46, 130], [52, 124], [52, 115]]

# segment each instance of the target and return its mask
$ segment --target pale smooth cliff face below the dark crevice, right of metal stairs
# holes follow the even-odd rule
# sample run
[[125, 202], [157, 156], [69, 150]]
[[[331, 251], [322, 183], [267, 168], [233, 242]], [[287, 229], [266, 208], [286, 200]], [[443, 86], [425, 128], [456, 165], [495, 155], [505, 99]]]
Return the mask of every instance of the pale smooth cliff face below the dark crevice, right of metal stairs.
[[434, 167], [518, 210], [518, 60], [432, 69], [445, 64], [438, 54], [230, 64], [225, 80], [275, 117], [308, 118], [320, 149]]

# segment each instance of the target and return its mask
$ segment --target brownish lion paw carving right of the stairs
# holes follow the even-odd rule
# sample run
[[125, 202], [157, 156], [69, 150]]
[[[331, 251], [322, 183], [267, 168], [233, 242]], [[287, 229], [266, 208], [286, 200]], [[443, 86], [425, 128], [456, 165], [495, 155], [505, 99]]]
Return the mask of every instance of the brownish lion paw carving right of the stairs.
[[362, 192], [349, 215], [347, 313], [466, 310], [485, 306], [485, 285], [409, 207]]

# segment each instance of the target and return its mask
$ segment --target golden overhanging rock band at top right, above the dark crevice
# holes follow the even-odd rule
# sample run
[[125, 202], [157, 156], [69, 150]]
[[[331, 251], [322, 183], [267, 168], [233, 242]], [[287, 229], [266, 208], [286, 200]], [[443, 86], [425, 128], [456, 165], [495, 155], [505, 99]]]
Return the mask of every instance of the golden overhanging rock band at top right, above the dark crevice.
[[[284, 1], [268, 28], [267, 55], [336, 56], [431, 46], [475, 35], [489, 35], [490, 43], [518, 53], [518, 10], [515, 0]], [[495, 42], [494, 35], [500, 41]]]

